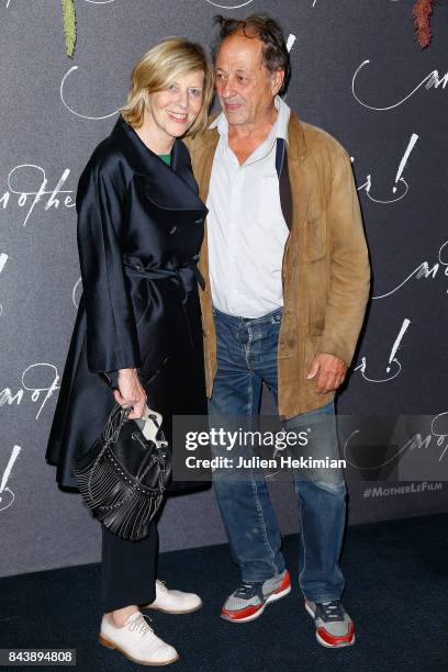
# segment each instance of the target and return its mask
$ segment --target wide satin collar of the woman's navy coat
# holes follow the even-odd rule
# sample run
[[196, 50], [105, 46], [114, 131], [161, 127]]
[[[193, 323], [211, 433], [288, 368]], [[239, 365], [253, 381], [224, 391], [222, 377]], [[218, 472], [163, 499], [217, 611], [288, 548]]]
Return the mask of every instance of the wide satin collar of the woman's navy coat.
[[135, 173], [145, 177], [147, 194], [157, 206], [169, 210], [206, 210], [198, 197], [190, 155], [181, 139], [176, 139], [171, 150], [171, 166], [152, 152], [120, 115], [111, 137], [124, 150]]

